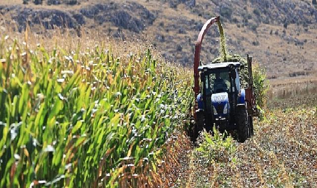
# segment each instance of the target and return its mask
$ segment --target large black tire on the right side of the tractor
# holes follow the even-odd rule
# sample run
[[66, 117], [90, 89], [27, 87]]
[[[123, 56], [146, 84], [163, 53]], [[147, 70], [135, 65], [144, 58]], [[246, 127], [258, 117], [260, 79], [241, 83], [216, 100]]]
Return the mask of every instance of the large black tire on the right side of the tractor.
[[248, 112], [245, 106], [237, 109], [238, 141], [243, 143], [249, 138]]

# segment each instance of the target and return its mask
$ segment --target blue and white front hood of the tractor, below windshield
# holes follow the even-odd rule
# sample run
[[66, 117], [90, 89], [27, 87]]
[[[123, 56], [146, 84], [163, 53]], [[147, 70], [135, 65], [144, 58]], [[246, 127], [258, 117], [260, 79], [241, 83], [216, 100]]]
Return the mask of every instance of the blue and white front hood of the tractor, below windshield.
[[227, 93], [211, 95], [212, 108], [214, 115], [226, 115], [229, 113], [229, 98]]

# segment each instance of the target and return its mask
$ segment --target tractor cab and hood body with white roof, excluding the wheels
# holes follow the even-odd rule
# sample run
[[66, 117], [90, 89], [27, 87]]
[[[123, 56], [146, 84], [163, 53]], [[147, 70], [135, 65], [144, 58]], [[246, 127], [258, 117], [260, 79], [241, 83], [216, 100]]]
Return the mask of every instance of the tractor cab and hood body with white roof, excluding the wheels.
[[[203, 111], [206, 129], [213, 123], [220, 129], [228, 129], [240, 101], [241, 88], [238, 74], [239, 62], [225, 62], [202, 65], [200, 72], [200, 94], [197, 96], [198, 109]], [[244, 91], [243, 91], [244, 93]], [[244, 97], [243, 97], [244, 98]]]

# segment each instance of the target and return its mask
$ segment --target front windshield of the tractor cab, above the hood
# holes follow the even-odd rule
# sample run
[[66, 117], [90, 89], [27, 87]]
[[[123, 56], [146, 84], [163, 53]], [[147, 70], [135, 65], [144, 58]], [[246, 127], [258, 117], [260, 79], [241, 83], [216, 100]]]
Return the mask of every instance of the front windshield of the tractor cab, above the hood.
[[[207, 82], [208, 81], [208, 82]], [[206, 93], [229, 92], [229, 72], [216, 72], [206, 75]]]

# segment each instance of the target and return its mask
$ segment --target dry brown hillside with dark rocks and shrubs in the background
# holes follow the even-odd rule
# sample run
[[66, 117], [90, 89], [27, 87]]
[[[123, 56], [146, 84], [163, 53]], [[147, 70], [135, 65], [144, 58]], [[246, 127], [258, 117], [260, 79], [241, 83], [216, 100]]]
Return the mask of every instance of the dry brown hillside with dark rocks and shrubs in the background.
[[[98, 26], [100, 32], [121, 38], [146, 35], [166, 58], [186, 66], [192, 66], [201, 27], [220, 15], [229, 50], [253, 55], [269, 78], [317, 71], [317, 5], [311, 0], [77, 0], [74, 5], [68, 5], [69, 0], [44, 0], [42, 5], [11, 1], [0, 2], [2, 27], [14, 20], [18, 31], [28, 22], [46, 29]], [[218, 47], [214, 26], [204, 40], [202, 61], [218, 56]]]

